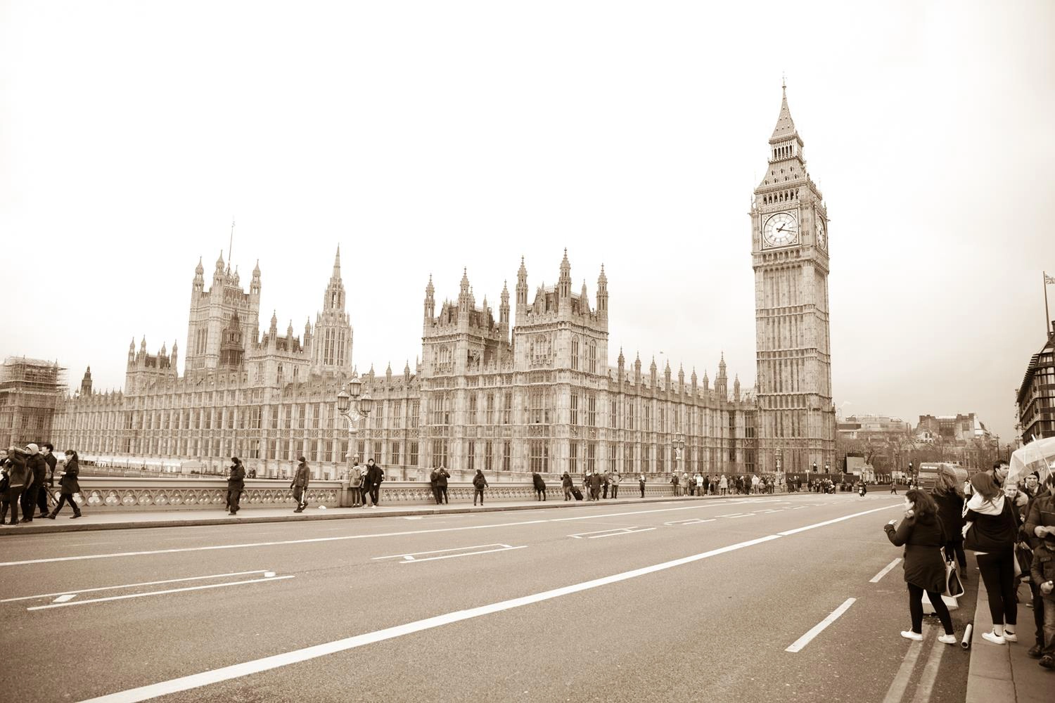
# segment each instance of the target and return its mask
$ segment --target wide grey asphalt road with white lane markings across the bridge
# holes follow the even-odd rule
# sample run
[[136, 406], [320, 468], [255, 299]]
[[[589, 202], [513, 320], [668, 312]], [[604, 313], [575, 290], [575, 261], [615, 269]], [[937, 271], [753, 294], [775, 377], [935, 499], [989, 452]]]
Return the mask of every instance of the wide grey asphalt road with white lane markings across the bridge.
[[5, 659], [46, 672], [5, 665], [0, 686], [22, 702], [962, 701], [967, 652], [933, 619], [922, 645], [899, 634], [900, 563], [872, 583], [901, 555], [881, 529], [900, 506], [798, 494], [7, 535]]

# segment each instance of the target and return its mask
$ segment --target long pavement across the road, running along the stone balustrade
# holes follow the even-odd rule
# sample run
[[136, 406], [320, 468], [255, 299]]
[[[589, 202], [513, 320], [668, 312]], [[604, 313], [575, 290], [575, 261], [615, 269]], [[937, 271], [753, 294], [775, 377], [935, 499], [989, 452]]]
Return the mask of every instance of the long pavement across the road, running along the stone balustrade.
[[[474, 507], [471, 503], [456, 503], [450, 505], [394, 505], [386, 506], [382, 503], [377, 508], [320, 508], [308, 506], [302, 513], [293, 512], [293, 505], [289, 508], [251, 508], [245, 507], [238, 511], [237, 516], [230, 516], [224, 508], [213, 508], [209, 510], [155, 510], [152, 512], [97, 512], [92, 513], [85, 509], [83, 518], [71, 520], [73, 514], [69, 508], [63, 510], [55, 520], [35, 518], [30, 524], [19, 524], [17, 526], [0, 527], [0, 539], [5, 534], [30, 534], [44, 532], [81, 532], [90, 530], [122, 530], [143, 527], [190, 527], [197, 525], [230, 525], [245, 523], [290, 523], [316, 520], [357, 520], [363, 518], [413, 518], [422, 515], [457, 514], [465, 512], [499, 512], [507, 510], [538, 510], [551, 508], [571, 508], [583, 505], [638, 505], [645, 503], [668, 503], [668, 502], [690, 502], [690, 501], [729, 501], [738, 499], [773, 499], [795, 493], [772, 493], [760, 495], [707, 495], [707, 496], [648, 496], [648, 497], [625, 497], [617, 500], [602, 499], [598, 503], [588, 503], [587, 501], [568, 501], [563, 495], [555, 496], [549, 501], [488, 501], [486, 505]], [[803, 493], [807, 495], [807, 493]], [[809, 493], [812, 495], [812, 493]], [[846, 493], [851, 495], [851, 493]], [[852, 495], [856, 495], [852, 494]], [[383, 497], [383, 495], [382, 495]]]

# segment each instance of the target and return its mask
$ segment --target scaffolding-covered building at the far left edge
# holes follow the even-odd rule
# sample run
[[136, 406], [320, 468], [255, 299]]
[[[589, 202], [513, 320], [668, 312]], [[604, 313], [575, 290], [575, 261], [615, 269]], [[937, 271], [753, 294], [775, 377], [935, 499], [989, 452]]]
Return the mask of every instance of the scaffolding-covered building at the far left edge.
[[46, 442], [55, 410], [65, 394], [58, 362], [8, 356], [0, 367], [0, 447]]

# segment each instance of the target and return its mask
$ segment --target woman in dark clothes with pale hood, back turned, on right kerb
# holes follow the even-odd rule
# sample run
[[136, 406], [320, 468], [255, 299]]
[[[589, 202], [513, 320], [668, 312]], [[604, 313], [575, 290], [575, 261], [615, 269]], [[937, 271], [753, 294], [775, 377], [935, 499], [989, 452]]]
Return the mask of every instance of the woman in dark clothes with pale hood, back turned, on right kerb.
[[979, 471], [971, 476], [973, 489], [963, 526], [966, 549], [975, 552], [989, 593], [993, 630], [982, 638], [993, 644], [1017, 642], [1018, 598], [1015, 593], [1015, 539], [1018, 524], [1011, 501], [996, 485], [993, 474]]

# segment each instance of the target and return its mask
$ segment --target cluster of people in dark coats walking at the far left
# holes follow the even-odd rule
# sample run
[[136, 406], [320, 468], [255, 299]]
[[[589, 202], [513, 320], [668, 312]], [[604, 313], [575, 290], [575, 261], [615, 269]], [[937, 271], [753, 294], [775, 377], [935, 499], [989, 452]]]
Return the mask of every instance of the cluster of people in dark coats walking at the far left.
[[[77, 452], [68, 449], [61, 460], [55, 456], [55, 447], [44, 442], [25, 447], [0, 449], [0, 525], [14, 526], [38, 520], [55, 520], [65, 504], [73, 508], [71, 519], [81, 516], [80, 485], [77, 483], [79, 461]], [[59, 495], [52, 493], [55, 477], [59, 479]], [[19, 520], [21, 510], [21, 520]], [[7, 512], [11, 511], [11, 522]]]

